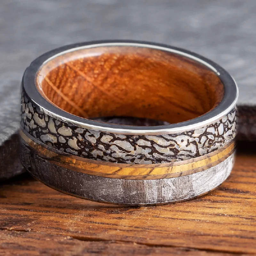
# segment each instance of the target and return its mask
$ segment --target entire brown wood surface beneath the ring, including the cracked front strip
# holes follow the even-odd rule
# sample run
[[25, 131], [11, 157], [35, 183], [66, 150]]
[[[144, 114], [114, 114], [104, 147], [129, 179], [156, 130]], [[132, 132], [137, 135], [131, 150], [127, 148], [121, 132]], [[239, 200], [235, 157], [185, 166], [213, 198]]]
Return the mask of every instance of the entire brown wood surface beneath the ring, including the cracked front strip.
[[229, 178], [187, 202], [128, 207], [1, 183], [0, 255], [256, 255], [256, 150], [238, 144]]

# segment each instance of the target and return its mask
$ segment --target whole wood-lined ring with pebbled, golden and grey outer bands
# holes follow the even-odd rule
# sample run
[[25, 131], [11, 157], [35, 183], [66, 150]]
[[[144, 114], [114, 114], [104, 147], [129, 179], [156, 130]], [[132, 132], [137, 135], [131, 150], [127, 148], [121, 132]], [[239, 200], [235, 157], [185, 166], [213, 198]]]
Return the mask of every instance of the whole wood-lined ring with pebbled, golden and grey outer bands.
[[196, 53], [142, 41], [72, 44], [34, 60], [21, 87], [21, 162], [61, 192], [167, 204], [211, 191], [232, 170], [238, 89]]

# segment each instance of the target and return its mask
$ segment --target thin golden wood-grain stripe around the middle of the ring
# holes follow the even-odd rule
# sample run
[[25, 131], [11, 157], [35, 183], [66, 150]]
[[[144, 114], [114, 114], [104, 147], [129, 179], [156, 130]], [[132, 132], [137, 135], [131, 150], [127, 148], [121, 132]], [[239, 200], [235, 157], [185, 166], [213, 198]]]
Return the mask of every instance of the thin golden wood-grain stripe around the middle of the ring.
[[[160, 165], [160, 167], [157, 167], [155, 164], [147, 164], [147, 167], [143, 164], [134, 164], [133, 166], [136, 166], [136, 168], [133, 168], [131, 167], [132, 165], [128, 165], [127, 167], [126, 164], [119, 164], [118, 166], [113, 163], [105, 162], [103, 162], [104, 164], [101, 164], [101, 161], [88, 160], [77, 156], [74, 158], [70, 155], [63, 155], [62, 152], [62, 154], [58, 154], [47, 149], [47, 145], [42, 146], [31, 140], [24, 132], [20, 132], [20, 135], [30, 147], [34, 148], [40, 155], [44, 156], [44, 158], [48, 159], [50, 162], [73, 169], [77, 172], [107, 177], [111, 176], [111, 178], [127, 178], [128, 176], [135, 178], [136, 176], [140, 177], [140, 179], [147, 179], [147, 176], [150, 176], [150, 179], [156, 179], [159, 177], [169, 178], [170, 176], [177, 177], [200, 172], [224, 161], [234, 152], [235, 148], [235, 143], [231, 142], [226, 147], [216, 150], [214, 155], [211, 153], [205, 155], [203, 159], [201, 157], [193, 158], [193, 162], [189, 159], [185, 161], [176, 161], [175, 164], [172, 162], [170, 163], [170, 166]], [[141, 168], [140, 166], [143, 167]]]

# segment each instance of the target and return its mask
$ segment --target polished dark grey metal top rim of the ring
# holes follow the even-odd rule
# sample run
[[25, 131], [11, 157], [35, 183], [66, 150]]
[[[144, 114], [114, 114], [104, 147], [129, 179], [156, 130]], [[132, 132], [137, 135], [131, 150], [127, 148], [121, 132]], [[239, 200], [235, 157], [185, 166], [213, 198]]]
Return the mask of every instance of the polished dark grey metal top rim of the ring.
[[[224, 85], [224, 97], [220, 104], [212, 109], [211, 111], [205, 113], [202, 116], [196, 117], [194, 119], [177, 123], [168, 124], [161, 126], [127, 126], [121, 124], [108, 124], [98, 121], [93, 121], [90, 119], [85, 119], [79, 116], [72, 115], [60, 108], [54, 106], [50, 102], [44, 99], [44, 97], [38, 92], [35, 85], [36, 74], [39, 68], [44, 65], [47, 61], [62, 55], [66, 52], [73, 52], [79, 49], [92, 48], [98, 46], [137, 46], [137, 47], [149, 47], [154, 49], [159, 49], [162, 51], [172, 52], [175, 54], [182, 55], [186, 58], [196, 60], [197, 62], [203, 64], [204, 66], [211, 69], [216, 76], [218, 76]], [[76, 124], [79, 127], [84, 127], [88, 129], [97, 129], [104, 132], [116, 132], [122, 134], [160, 134], [160, 133], [177, 133], [184, 132], [190, 129], [196, 129], [197, 127], [202, 127], [207, 124], [212, 123], [212, 121], [219, 119], [220, 117], [226, 115], [234, 106], [238, 98], [238, 88], [236, 82], [228, 74], [228, 72], [220, 67], [218, 64], [211, 60], [204, 58], [196, 53], [189, 52], [187, 50], [168, 46], [165, 44], [156, 44], [144, 41], [131, 41], [131, 40], [108, 40], [108, 41], [94, 41], [79, 44], [70, 44], [55, 50], [49, 51], [34, 60], [30, 66], [26, 69], [23, 79], [22, 86], [26, 96], [38, 107], [44, 110], [49, 116], [58, 118], [67, 123]]]

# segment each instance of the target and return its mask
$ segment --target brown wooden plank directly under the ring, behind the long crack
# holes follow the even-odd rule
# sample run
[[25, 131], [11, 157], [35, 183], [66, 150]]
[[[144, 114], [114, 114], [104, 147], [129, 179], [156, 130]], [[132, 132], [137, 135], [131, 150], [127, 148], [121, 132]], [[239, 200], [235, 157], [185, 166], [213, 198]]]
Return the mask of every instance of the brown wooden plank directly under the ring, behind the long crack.
[[239, 152], [228, 180], [210, 194], [162, 206], [132, 208], [90, 202], [61, 194], [26, 174], [1, 185], [0, 229], [79, 241], [256, 253], [253, 150]]

